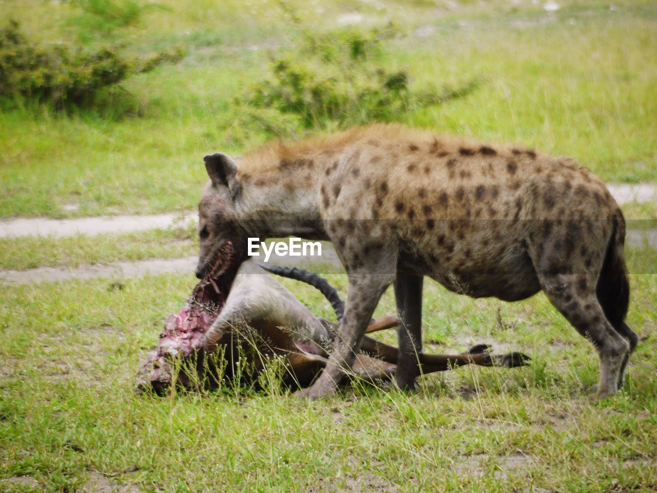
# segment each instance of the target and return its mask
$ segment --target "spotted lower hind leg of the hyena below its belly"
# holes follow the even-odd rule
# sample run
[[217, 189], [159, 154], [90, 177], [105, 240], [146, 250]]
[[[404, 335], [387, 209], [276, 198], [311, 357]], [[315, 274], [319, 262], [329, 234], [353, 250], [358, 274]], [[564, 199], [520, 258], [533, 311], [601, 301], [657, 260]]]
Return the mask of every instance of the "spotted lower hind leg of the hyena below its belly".
[[555, 274], [539, 275], [539, 280], [550, 302], [598, 351], [600, 381], [596, 396], [616, 394], [630, 344], [604, 316], [595, 294], [596, 279], [588, 274]]

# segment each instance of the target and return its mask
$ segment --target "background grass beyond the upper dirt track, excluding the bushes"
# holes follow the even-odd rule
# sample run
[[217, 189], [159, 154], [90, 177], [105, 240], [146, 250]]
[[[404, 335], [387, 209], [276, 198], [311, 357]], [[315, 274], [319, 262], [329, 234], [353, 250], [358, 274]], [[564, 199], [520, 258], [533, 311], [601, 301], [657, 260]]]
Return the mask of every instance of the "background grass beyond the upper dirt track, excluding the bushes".
[[[0, 217], [187, 210], [204, 181], [204, 154], [239, 154], [267, 138], [235, 128], [241, 108], [233, 97], [262, 78], [269, 53], [294, 44], [297, 28], [275, 3], [163, 4], [170, 9], [145, 14], [116, 41], [145, 52], [183, 45], [189, 57], [129, 80], [134, 97], [115, 94], [98, 112], [53, 114], [28, 104], [0, 114]], [[575, 1], [554, 14], [531, 3], [383, 5], [311, 3], [299, 12], [323, 30], [340, 12], [361, 13], [364, 25], [396, 20], [409, 35], [388, 45], [386, 60], [409, 68], [417, 87], [485, 80], [462, 100], [409, 114], [408, 124], [568, 154], [606, 180], [654, 179], [654, 5], [621, 2], [612, 11]], [[1, 17], [8, 7], [38, 36], [73, 37], [64, 22], [70, 3], [9, 2]], [[141, 116], [117, 116], [126, 98]]]

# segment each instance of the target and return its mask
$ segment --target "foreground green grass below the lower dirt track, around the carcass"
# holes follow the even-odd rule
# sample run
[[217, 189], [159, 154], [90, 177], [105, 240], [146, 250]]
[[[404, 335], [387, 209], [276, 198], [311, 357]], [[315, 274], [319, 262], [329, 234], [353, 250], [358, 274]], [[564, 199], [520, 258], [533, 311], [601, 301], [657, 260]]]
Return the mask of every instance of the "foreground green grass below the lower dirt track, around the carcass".
[[[344, 289], [344, 277], [331, 281]], [[657, 488], [654, 275], [632, 279], [628, 323], [645, 340], [627, 387], [595, 404], [585, 399], [595, 352], [542, 295], [503, 304], [435, 283], [424, 333], [442, 343], [429, 350], [492, 340], [531, 354], [532, 365], [465, 367], [426, 377], [410, 395], [357, 386], [312, 404], [249, 390], [135, 396], [145, 350], [193, 283], [0, 288], [0, 477], [30, 475], [44, 491], [76, 490], [91, 475], [170, 492]], [[284, 284], [330, 316], [314, 290]], [[378, 313], [393, 306], [386, 293]]]

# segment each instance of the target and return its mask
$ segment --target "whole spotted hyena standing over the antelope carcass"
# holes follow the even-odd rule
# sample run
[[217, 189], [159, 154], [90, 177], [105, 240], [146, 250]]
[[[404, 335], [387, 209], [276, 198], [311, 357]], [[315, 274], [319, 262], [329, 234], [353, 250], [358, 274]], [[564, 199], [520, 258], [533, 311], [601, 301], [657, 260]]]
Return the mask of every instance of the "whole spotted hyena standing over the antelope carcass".
[[334, 391], [391, 283], [403, 321], [396, 381], [414, 387], [424, 275], [474, 298], [542, 289], [595, 344], [597, 396], [622, 385], [637, 345], [623, 321], [625, 222], [602, 181], [569, 158], [376, 125], [265, 145], [238, 165], [204, 160], [197, 275], [227, 240], [246, 258], [247, 237], [286, 235], [332, 241], [346, 269], [340, 337], [304, 395]]

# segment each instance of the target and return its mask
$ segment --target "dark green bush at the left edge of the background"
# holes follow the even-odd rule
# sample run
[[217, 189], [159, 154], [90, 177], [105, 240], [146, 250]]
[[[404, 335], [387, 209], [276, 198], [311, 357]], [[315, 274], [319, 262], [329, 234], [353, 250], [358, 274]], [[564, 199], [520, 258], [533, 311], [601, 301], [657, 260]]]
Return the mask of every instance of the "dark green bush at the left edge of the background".
[[89, 105], [102, 89], [182, 56], [181, 51], [171, 51], [140, 59], [124, 56], [116, 47], [85, 51], [40, 46], [11, 21], [0, 29], [0, 97], [24, 97], [58, 108]]

